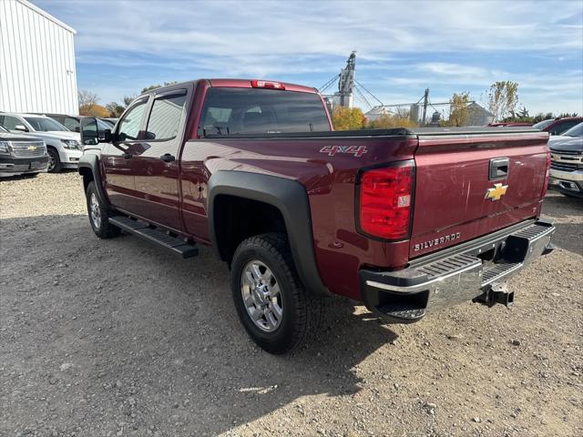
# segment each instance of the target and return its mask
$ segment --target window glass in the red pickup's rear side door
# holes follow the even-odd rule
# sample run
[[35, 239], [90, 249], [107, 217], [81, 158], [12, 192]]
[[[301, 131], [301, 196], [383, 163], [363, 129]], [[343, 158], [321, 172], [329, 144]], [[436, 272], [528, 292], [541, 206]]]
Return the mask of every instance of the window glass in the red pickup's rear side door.
[[156, 98], [146, 127], [146, 139], [168, 141], [177, 137], [185, 102], [186, 92]]

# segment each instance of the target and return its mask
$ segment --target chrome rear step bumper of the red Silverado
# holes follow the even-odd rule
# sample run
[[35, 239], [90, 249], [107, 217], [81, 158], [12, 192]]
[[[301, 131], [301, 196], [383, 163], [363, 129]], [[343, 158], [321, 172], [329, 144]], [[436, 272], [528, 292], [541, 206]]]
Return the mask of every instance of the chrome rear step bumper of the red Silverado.
[[538, 220], [502, 229], [417, 259], [407, 269], [360, 272], [369, 310], [391, 321], [419, 320], [436, 310], [473, 300], [552, 250], [555, 227]]

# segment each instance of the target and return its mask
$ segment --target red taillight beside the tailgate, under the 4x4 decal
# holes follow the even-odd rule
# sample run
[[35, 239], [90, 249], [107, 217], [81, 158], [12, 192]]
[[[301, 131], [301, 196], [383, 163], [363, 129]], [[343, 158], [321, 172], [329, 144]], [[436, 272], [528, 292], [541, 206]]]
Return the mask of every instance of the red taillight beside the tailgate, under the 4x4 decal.
[[363, 232], [382, 239], [409, 236], [413, 179], [413, 162], [363, 172], [360, 192]]

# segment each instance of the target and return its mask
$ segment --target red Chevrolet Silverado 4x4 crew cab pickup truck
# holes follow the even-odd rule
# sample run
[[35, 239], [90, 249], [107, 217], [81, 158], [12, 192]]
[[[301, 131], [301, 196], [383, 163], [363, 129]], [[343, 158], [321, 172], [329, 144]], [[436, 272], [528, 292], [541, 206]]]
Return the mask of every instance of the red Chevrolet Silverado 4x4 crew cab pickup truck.
[[314, 88], [201, 79], [96, 132], [85, 120], [79, 173], [97, 237], [123, 229], [183, 258], [211, 246], [271, 353], [302, 344], [331, 295], [404, 323], [511, 304], [504, 280], [552, 249], [548, 134], [528, 127], [334, 132]]

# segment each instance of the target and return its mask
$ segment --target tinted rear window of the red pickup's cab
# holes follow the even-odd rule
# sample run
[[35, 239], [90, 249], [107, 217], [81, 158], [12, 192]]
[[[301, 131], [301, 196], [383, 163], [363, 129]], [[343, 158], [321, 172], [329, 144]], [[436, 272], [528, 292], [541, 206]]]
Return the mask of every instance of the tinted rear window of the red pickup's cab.
[[320, 96], [275, 89], [210, 88], [200, 120], [202, 136], [331, 130]]

